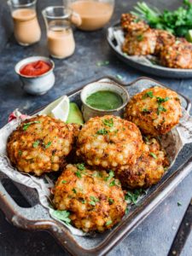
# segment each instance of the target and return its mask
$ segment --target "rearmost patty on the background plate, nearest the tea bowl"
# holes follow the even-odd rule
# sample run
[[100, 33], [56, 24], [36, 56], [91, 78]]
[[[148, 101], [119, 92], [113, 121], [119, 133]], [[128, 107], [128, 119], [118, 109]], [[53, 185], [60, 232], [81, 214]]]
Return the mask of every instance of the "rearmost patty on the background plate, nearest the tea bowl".
[[121, 15], [120, 25], [125, 33], [145, 31], [148, 29], [148, 24], [144, 20], [131, 14]]

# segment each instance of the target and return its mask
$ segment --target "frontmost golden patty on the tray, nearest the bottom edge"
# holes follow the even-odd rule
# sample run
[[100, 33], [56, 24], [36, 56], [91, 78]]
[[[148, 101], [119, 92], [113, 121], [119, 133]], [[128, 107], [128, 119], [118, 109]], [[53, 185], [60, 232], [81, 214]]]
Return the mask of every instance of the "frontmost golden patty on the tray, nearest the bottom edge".
[[68, 165], [55, 184], [54, 204], [71, 212], [69, 218], [85, 232], [108, 230], [125, 214], [125, 198], [113, 172], [90, 171], [84, 164]]

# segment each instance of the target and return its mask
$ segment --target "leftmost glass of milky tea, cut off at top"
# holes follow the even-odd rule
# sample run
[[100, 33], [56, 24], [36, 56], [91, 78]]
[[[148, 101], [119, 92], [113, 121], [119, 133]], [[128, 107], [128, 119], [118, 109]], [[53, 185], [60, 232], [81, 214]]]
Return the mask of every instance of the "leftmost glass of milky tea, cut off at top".
[[36, 3], [37, 0], [8, 1], [14, 20], [15, 39], [23, 46], [37, 43], [41, 38]]

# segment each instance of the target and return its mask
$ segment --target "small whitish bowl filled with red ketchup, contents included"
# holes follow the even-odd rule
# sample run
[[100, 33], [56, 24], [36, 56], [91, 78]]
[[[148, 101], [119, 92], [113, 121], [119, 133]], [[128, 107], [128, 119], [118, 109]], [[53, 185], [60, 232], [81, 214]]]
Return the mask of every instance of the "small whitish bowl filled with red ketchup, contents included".
[[28, 57], [15, 65], [21, 87], [32, 95], [44, 95], [55, 84], [55, 64], [44, 56]]

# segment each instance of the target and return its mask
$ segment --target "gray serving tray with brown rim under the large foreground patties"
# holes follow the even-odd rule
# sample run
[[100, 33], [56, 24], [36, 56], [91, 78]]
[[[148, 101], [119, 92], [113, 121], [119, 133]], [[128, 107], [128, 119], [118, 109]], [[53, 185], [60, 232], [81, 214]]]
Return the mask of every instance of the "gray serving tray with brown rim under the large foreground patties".
[[[113, 78], [102, 79], [110, 79], [112, 83], [125, 86], [130, 96], [154, 85], [165, 86], [148, 78], [137, 79], [131, 84], [122, 84]], [[99, 80], [101, 79], [96, 81]], [[81, 107], [81, 90], [82, 88], [68, 95], [71, 102], [77, 102], [79, 107]], [[185, 96], [180, 95], [180, 97], [183, 108], [189, 113], [191, 107], [189, 100]], [[48, 209], [43, 207], [40, 203], [36, 189], [15, 183], [22, 195], [26, 198], [26, 201], [32, 206], [29, 208], [19, 207], [4, 187], [5, 180], [8, 179], [8, 177], [5, 173], [1, 172], [2, 170], [0, 170], [0, 208], [10, 223], [26, 230], [49, 231], [55, 239], [60, 242], [61, 246], [66, 248], [67, 251], [73, 255], [104, 255], [136, 228], [136, 226], [177, 187], [177, 184], [192, 171], [191, 131], [189, 131], [188, 136], [189, 142], [191, 143], [183, 146], [182, 150], [177, 155], [174, 165], [166, 172], [166, 175], [161, 179], [160, 183], [148, 189], [148, 194], [139, 201], [139, 204], [131, 207], [131, 211], [118, 225], [103, 234], [96, 234], [95, 236], [74, 236], [66, 226], [50, 217]]]

